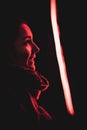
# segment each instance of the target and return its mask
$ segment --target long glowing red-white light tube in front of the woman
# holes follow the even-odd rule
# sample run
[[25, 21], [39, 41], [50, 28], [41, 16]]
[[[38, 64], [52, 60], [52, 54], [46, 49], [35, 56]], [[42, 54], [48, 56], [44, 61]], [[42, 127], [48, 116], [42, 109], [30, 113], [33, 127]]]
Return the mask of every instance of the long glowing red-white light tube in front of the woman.
[[56, 14], [56, 0], [50, 0], [50, 9], [51, 9], [51, 22], [52, 22], [52, 29], [53, 29], [53, 35], [54, 35], [54, 41], [55, 41], [55, 50], [56, 50], [56, 56], [57, 61], [59, 65], [59, 71], [60, 71], [60, 77], [65, 97], [65, 103], [66, 108], [69, 114], [74, 115], [74, 108], [72, 104], [72, 98], [70, 93], [70, 86], [68, 82], [67, 77], [67, 71], [66, 71], [66, 65], [65, 65], [65, 59], [63, 54], [63, 48], [60, 44], [60, 32], [59, 27], [57, 25], [57, 14]]

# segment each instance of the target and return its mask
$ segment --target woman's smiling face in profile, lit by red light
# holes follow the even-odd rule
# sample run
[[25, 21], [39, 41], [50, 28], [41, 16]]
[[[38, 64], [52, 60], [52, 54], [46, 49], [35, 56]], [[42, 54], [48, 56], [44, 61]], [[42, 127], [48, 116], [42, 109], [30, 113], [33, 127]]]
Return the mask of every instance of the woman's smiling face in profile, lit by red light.
[[34, 59], [36, 53], [40, 50], [39, 47], [33, 41], [33, 34], [29, 26], [25, 23], [19, 27], [19, 37], [15, 44], [17, 61], [21, 66], [28, 67], [31, 70], [35, 70]]

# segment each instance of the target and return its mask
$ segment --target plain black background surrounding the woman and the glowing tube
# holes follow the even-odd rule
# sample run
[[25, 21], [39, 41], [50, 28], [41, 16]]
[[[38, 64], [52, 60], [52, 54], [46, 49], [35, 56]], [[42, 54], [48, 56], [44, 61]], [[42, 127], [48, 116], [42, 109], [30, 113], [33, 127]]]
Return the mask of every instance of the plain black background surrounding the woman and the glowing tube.
[[86, 127], [86, 4], [79, 0], [57, 0], [60, 40], [72, 94], [75, 115], [66, 109], [50, 19], [50, 0], [5, 2], [2, 15], [25, 18], [40, 47], [36, 66], [48, 78], [50, 87], [42, 93], [40, 104], [58, 123], [59, 129]]

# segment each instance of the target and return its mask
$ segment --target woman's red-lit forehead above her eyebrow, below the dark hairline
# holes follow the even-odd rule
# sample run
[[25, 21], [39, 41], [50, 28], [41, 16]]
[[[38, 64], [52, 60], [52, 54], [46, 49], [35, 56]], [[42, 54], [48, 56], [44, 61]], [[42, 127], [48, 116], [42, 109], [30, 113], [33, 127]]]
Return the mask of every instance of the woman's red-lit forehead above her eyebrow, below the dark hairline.
[[33, 34], [32, 34], [30, 27], [25, 23], [22, 23], [20, 25], [19, 34], [21, 37], [26, 37], [26, 36], [29, 36], [31, 38], [33, 37]]

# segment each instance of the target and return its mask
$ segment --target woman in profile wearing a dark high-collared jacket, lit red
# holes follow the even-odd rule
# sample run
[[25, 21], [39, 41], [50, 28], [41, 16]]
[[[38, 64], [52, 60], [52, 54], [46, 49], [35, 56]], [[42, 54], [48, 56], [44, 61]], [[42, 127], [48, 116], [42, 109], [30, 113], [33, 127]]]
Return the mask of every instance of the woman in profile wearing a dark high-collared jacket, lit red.
[[1, 124], [8, 129], [51, 128], [51, 115], [38, 104], [49, 81], [36, 70], [34, 60], [40, 48], [33, 33], [18, 18], [2, 19], [0, 26]]

